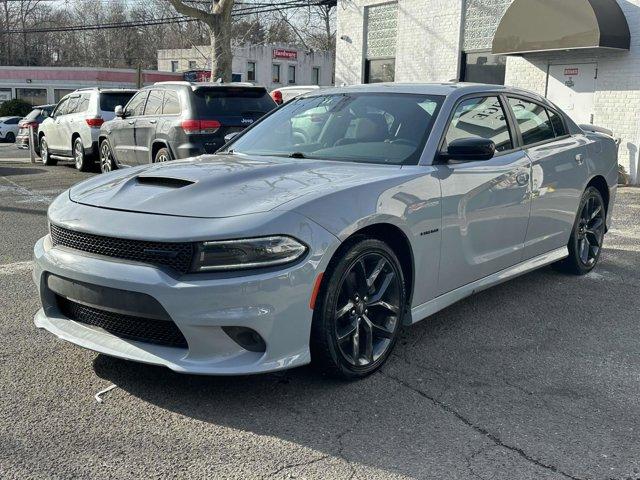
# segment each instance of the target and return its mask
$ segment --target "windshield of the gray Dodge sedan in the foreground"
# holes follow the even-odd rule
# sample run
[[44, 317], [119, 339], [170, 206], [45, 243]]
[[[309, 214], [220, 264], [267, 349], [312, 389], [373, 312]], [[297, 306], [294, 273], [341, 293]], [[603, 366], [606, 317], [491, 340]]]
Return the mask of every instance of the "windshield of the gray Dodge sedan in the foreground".
[[234, 153], [417, 164], [443, 97], [342, 93], [293, 100], [230, 145]]

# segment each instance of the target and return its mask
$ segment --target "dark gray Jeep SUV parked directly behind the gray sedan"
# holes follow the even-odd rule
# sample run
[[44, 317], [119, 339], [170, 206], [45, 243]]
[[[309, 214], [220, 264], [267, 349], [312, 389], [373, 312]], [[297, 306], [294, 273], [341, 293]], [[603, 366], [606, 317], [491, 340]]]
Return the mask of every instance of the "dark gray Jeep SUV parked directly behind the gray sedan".
[[225, 136], [276, 104], [264, 87], [241, 83], [160, 82], [143, 88], [100, 132], [100, 168], [214, 153]]

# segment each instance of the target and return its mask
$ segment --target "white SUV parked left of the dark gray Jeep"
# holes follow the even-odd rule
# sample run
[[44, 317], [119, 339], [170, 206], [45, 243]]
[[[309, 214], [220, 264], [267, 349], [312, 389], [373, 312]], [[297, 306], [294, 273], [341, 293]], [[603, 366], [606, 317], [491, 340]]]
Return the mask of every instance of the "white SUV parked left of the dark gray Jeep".
[[38, 140], [44, 165], [72, 160], [78, 170], [88, 170], [98, 159], [100, 127], [115, 118], [117, 105], [137, 92], [123, 88], [83, 88], [60, 100], [40, 125]]

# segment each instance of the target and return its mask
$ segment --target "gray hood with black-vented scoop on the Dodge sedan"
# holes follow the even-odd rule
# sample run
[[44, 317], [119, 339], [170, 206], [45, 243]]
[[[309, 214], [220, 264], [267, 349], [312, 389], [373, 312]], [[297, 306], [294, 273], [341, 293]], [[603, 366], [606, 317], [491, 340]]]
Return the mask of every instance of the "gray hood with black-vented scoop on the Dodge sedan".
[[305, 195], [387, 180], [401, 167], [312, 159], [203, 155], [99, 175], [72, 201], [131, 212], [221, 218], [267, 212]]

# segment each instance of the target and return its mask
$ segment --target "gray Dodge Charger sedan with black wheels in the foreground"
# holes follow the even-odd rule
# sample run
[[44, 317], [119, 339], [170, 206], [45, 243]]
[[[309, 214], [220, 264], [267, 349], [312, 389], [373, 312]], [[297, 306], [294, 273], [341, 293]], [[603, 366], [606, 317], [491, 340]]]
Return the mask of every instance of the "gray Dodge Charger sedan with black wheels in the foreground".
[[461, 298], [548, 264], [593, 269], [616, 156], [522, 90], [321, 90], [215, 155], [60, 195], [34, 248], [35, 324], [178, 372], [363, 377]]

